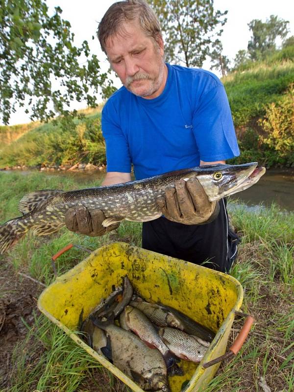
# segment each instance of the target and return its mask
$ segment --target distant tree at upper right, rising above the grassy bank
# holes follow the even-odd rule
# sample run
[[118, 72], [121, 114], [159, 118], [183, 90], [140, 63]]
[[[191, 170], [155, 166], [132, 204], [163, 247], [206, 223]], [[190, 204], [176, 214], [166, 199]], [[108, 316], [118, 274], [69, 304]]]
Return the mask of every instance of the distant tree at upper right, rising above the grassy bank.
[[284, 40], [289, 32], [288, 21], [280, 19], [275, 15], [270, 15], [270, 19], [262, 22], [260, 19], [253, 19], [248, 23], [252, 32], [248, 42], [248, 53], [252, 60], [259, 60], [272, 50], [276, 49], [276, 39], [280, 37]]

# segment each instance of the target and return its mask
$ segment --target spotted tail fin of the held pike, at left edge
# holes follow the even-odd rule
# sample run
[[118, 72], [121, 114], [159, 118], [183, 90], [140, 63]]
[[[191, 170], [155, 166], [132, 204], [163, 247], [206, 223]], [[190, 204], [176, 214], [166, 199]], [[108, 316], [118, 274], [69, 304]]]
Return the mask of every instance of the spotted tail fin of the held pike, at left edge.
[[28, 231], [29, 225], [22, 217], [5, 222], [0, 226], [0, 254], [16, 244]]

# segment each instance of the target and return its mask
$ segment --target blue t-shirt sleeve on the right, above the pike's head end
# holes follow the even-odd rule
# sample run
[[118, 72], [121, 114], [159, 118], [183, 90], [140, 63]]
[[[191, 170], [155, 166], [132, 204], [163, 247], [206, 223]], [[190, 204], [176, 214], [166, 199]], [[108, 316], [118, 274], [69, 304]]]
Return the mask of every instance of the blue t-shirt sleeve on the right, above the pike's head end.
[[240, 155], [228, 98], [221, 82], [200, 96], [193, 115], [193, 129], [202, 161], [220, 161]]

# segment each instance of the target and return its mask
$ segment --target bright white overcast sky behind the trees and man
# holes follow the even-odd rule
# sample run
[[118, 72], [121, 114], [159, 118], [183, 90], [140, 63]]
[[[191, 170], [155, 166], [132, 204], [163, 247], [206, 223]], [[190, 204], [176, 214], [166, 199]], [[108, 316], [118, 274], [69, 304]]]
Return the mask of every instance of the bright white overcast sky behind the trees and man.
[[[63, 10], [62, 18], [68, 20], [72, 25], [75, 34], [75, 45], [80, 45], [84, 40], [90, 44], [92, 52], [104, 64], [105, 70], [108, 67], [104, 53], [99, 48], [98, 39], [92, 40], [96, 35], [98, 22], [108, 7], [115, 1], [112, 0], [47, 0], [50, 9], [59, 5]], [[277, 15], [279, 18], [289, 21], [290, 34], [294, 35], [294, 1], [291, 0], [215, 0], [214, 6], [220, 11], [228, 10], [227, 23], [223, 26], [221, 42], [223, 54], [233, 59], [240, 49], [246, 49], [250, 39], [248, 23], [252, 19], [266, 21], [270, 15]], [[205, 62], [204, 69], [210, 68], [209, 62]], [[215, 71], [214, 71], [215, 72]], [[217, 73], [218, 74], [218, 73]], [[218, 74], [220, 76], [220, 74]], [[117, 85], [119, 87], [119, 84]], [[73, 104], [72, 109], [85, 107], [81, 104]], [[29, 116], [24, 110], [18, 110], [12, 114], [10, 125], [29, 122]]]

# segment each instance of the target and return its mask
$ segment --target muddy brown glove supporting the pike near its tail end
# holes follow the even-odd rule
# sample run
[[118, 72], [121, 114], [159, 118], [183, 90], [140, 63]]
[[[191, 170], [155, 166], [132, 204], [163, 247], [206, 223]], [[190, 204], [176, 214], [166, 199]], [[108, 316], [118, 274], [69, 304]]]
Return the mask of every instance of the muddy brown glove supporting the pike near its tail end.
[[66, 227], [75, 233], [97, 237], [117, 229], [120, 223], [102, 226], [105, 215], [101, 210], [88, 210], [84, 206], [70, 208], [65, 214]]

